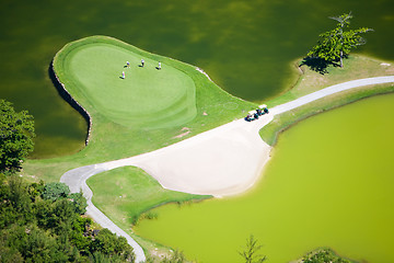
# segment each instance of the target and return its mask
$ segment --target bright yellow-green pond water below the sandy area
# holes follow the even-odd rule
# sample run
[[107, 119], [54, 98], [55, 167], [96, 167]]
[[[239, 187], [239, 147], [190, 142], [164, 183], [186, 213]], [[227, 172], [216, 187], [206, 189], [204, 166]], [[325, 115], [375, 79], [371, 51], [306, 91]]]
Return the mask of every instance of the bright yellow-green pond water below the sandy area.
[[308, 118], [281, 134], [253, 191], [166, 205], [136, 231], [204, 263], [242, 262], [250, 235], [268, 262], [318, 247], [394, 262], [393, 105], [394, 94], [381, 95]]

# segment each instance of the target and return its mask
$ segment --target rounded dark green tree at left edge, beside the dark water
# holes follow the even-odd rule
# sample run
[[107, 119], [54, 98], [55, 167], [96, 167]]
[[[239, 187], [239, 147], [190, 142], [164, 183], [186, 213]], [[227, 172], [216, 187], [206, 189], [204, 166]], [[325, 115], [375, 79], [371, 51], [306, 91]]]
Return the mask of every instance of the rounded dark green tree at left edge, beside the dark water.
[[33, 151], [34, 121], [27, 111], [15, 112], [10, 102], [0, 100], [0, 172], [15, 172]]

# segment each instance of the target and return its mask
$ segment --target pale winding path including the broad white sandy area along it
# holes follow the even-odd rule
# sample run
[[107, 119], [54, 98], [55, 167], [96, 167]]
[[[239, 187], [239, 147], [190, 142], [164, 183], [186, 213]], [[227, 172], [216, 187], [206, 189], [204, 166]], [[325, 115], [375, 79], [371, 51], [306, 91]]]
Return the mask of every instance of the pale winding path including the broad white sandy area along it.
[[60, 182], [69, 185], [72, 193], [82, 188], [88, 199], [86, 214], [102, 227], [125, 237], [134, 248], [136, 262], [143, 262], [146, 256], [141, 247], [93, 205], [93, 193], [86, 185], [90, 176], [119, 167], [135, 165], [143, 169], [169, 190], [217, 197], [239, 194], [254, 184], [269, 159], [270, 146], [260, 139], [258, 130], [273, 121], [275, 115], [337, 92], [390, 82], [394, 82], [394, 76], [332, 85], [275, 106], [269, 114], [252, 123], [237, 119], [155, 151], [77, 168], [66, 172]]

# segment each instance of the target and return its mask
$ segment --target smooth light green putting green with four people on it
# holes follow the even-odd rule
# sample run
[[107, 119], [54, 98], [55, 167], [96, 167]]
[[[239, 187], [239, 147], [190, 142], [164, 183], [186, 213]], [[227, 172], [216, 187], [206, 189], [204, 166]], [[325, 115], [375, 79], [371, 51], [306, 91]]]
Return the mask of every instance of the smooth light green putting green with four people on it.
[[163, 62], [159, 70], [158, 60], [121, 46], [79, 45], [67, 54], [63, 66], [90, 104], [120, 125], [171, 127], [196, 116], [195, 83], [189, 76]]

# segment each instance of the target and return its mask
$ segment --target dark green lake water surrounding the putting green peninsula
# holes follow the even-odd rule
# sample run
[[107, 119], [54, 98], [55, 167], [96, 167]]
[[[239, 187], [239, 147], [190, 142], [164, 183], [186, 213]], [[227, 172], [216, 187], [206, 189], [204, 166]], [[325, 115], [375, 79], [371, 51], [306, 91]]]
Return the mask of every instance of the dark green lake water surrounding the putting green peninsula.
[[263, 101], [291, 87], [290, 61], [332, 28], [332, 15], [352, 11], [352, 26], [370, 26], [359, 49], [394, 60], [392, 0], [0, 1], [0, 98], [35, 116], [33, 158], [83, 148], [85, 121], [48, 78], [67, 43], [109, 35], [205, 69], [224, 90]]

